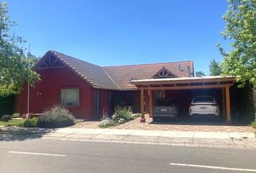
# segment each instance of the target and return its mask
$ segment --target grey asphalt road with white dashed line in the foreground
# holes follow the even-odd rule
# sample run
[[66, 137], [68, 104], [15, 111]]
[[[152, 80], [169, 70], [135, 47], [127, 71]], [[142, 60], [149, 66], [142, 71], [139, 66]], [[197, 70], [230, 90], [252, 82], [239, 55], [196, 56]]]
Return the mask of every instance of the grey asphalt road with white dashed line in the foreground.
[[27, 140], [0, 142], [0, 172], [256, 172], [256, 150]]

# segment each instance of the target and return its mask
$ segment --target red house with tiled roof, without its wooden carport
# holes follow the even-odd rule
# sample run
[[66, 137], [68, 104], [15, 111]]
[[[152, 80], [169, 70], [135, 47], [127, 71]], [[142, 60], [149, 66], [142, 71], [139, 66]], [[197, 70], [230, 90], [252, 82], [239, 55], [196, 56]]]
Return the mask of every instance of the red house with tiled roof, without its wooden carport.
[[[134, 112], [140, 112], [140, 92], [132, 79], [192, 77], [192, 61], [131, 66], [97, 66], [50, 50], [33, 66], [41, 81], [30, 87], [30, 112], [41, 113], [53, 105], [67, 107], [75, 117], [97, 118], [111, 114], [116, 94]], [[156, 91], [156, 97], [163, 92]], [[148, 99], [148, 94], [145, 94]], [[20, 114], [27, 113], [27, 86], [17, 99]], [[149, 112], [149, 107], [145, 106]]]

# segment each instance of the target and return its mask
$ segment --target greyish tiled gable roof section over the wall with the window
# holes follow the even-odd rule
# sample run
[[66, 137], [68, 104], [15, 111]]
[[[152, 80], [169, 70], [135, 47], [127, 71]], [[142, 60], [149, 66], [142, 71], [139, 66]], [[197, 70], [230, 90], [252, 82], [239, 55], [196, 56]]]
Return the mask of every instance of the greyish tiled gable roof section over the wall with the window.
[[111, 77], [106, 74], [101, 66], [96, 66], [93, 63], [88, 63], [71, 56], [66, 56], [63, 53], [59, 53], [54, 50], [49, 50], [45, 56], [35, 63], [33, 68], [41, 69], [42, 64], [45, 64], [45, 62], [48, 61], [48, 58], [51, 59], [52, 56], [59, 62], [63, 63], [64, 66], [67, 66], [74, 71], [74, 73], [82, 79], [88, 81], [94, 88], [119, 89], [119, 86], [114, 83]]

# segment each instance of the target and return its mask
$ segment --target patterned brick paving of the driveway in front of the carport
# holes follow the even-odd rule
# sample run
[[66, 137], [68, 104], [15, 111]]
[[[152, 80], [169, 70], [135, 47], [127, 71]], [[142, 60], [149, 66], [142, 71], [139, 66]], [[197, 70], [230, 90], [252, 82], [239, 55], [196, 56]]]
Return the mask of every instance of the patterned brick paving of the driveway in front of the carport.
[[[202, 132], [254, 132], [255, 129], [245, 125], [225, 124], [183, 124], [183, 123], [153, 123], [152, 118], [145, 115], [146, 123], [140, 123], [140, 117], [127, 123], [111, 127], [112, 129], [135, 129], [135, 130], [172, 130], [172, 131], [202, 131]], [[100, 121], [86, 121], [74, 125], [73, 128], [99, 128]]]

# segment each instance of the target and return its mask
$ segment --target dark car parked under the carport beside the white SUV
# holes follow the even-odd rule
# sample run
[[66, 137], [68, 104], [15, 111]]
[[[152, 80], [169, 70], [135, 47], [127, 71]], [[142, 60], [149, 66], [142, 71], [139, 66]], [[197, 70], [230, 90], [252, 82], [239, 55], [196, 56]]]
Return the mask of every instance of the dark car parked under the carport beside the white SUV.
[[153, 121], [159, 117], [177, 119], [179, 115], [179, 103], [176, 99], [158, 99], [153, 107]]

